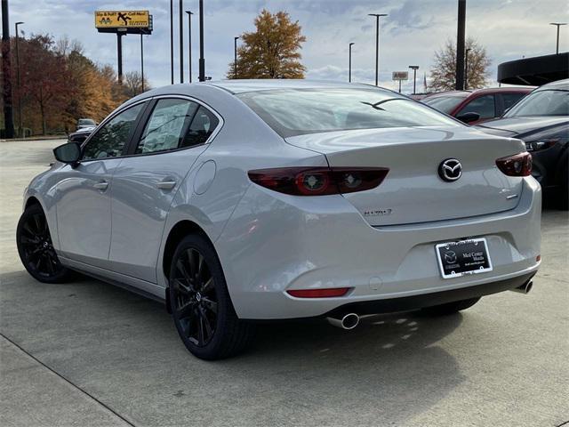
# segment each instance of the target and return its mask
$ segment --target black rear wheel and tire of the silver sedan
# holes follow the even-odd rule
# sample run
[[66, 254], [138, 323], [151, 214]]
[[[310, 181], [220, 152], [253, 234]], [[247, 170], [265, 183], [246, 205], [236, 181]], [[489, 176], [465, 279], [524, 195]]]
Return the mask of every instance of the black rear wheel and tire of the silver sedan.
[[239, 320], [212, 245], [199, 235], [183, 238], [172, 256], [169, 303], [180, 339], [199, 359], [216, 360], [243, 351], [254, 325]]

